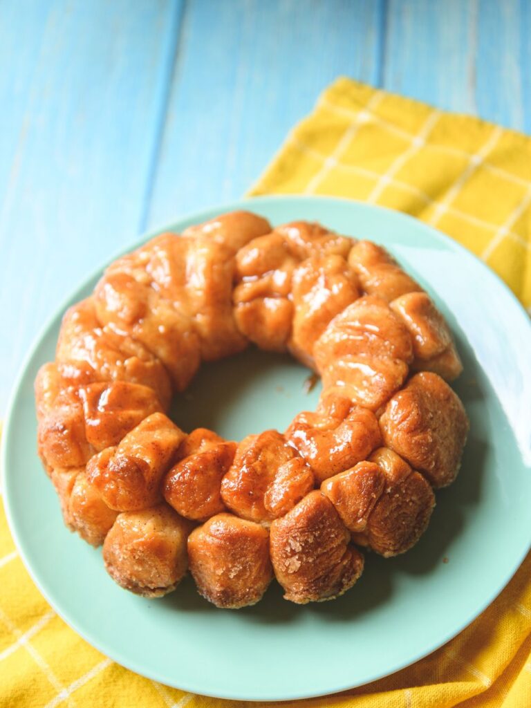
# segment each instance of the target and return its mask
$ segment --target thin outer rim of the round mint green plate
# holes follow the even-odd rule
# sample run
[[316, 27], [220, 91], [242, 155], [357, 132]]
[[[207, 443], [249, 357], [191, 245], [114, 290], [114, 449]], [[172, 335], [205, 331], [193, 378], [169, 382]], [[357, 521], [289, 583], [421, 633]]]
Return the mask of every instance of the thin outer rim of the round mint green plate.
[[[455, 241], [455, 239], [452, 239], [450, 236], [447, 236], [447, 234], [444, 234], [443, 232], [440, 232], [438, 229], [435, 229], [434, 227], [430, 226], [430, 224], [426, 224], [426, 222], [421, 221], [421, 219], [417, 219], [416, 217], [413, 217], [409, 214], [406, 214], [404, 212], [399, 212], [397, 210], [390, 209], [389, 207], [382, 207], [379, 205], [370, 205], [367, 204], [367, 202], [363, 202], [361, 200], [353, 200], [353, 199], [348, 199], [348, 198], [338, 198], [338, 197], [333, 197], [333, 196], [328, 196], [328, 195], [297, 195], [297, 194], [282, 194], [282, 195], [259, 195], [259, 196], [251, 196], [251, 197], [244, 197], [238, 200], [233, 200], [229, 202], [224, 202], [221, 205], [214, 205], [212, 207], [205, 207], [201, 210], [194, 210], [193, 212], [188, 212], [181, 217], [178, 217], [173, 220], [173, 222], [166, 222], [165, 224], [162, 224], [159, 227], [155, 227], [154, 229], [148, 229], [142, 232], [136, 238], [134, 241], [132, 241], [130, 244], [126, 245], [125, 248], [120, 248], [118, 251], [115, 253], [111, 254], [109, 258], [106, 258], [105, 261], [101, 263], [101, 265], [98, 265], [98, 268], [93, 269], [91, 273], [86, 275], [83, 280], [79, 283], [79, 285], [76, 286], [75, 290], [69, 293], [69, 295], [65, 298], [62, 299], [59, 304], [55, 305], [53, 308], [52, 314], [47, 317], [45, 320], [45, 323], [43, 326], [40, 328], [38, 331], [37, 335], [35, 338], [33, 338], [33, 341], [28, 348], [28, 352], [26, 353], [25, 357], [23, 358], [21, 362], [21, 366], [19, 367], [19, 370], [17, 372], [17, 375], [14, 379], [13, 383], [13, 389], [11, 389], [11, 394], [8, 399], [8, 406], [6, 408], [6, 415], [4, 418], [4, 430], [3, 434], [1, 435], [1, 457], [0, 457], [0, 486], [1, 489], [3, 490], [3, 498], [4, 498], [4, 509], [6, 513], [6, 519], [8, 522], [8, 527], [9, 531], [11, 532], [11, 536], [13, 537], [13, 541], [15, 542], [16, 549], [18, 551], [18, 554], [21, 557], [21, 560], [23, 561], [23, 564], [25, 566], [26, 571], [28, 571], [28, 574], [30, 578], [32, 579], [33, 583], [35, 583], [35, 586], [38, 588], [39, 592], [42, 594], [42, 596], [45, 598], [47, 603], [52, 607], [52, 609], [57, 613], [59, 617], [71, 628], [76, 632], [76, 634], [79, 634], [84, 641], [87, 641], [91, 646], [93, 646], [95, 649], [103, 653], [104, 656], [108, 656], [111, 658], [115, 663], [118, 663], [120, 666], [123, 666], [127, 668], [128, 670], [132, 670], [133, 672], [143, 676], [144, 678], [148, 678], [150, 680], [155, 680], [159, 683], [162, 683], [164, 685], [168, 685], [171, 687], [175, 687], [178, 690], [183, 690], [185, 692], [190, 692], [190, 693], [195, 693], [198, 695], [204, 695], [207, 697], [215, 697], [215, 698], [222, 698], [225, 700], [245, 700], [249, 702], [260, 702], [260, 701], [282, 701], [282, 700], [302, 700], [302, 699], [308, 699], [308, 698], [317, 698], [317, 697], [323, 697], [326, 695], [331, 695], [336, 692], [342, 692], [345, 690], [348, 690], [350, 688], [355, 688], [359, 687], [362, 685], [366, 685], [367, 683], [372, 683], [375, 680], [379, 680], [380, 678], [385, 678], [389, 675], [392, 675], [396, 673], [399, 670], [402, 670], [404, 668], [407, 668], [408, 666], [412, 666], [413, 663], [416, 663], [417, 661], [420, 661], [422, 658], [428, 656], [430, 653], [433, 651], [436, 651], [439, 649], [441, 646], [446, 644], [450, 639], [453, 639], [457, 634], [463, 631], [466, 627], [469, 626], [472, 622], [474, 622], [474, 619], [479, 617], [484, 610], [486, 610], [486, 607], [489, 607], [491, 603], [493, 603], [493, 600], [495, 600], [498, 595], [503, 591], [504, 588], [510, 583], [512, 578], [515, 576], [515, 573], [518, 571], [520, 568], [520, 565], [523, 563], [525, 557], [527, 556], [527, 553], [529, 552], [531, 548], [531, 535], [530, 538], [527, 540], [527, 545], [524, 544], [524, 549], [521, 554], [518, 554], [517, 560], [515, 563], [513, 563], [513, 566], [510, 570], [510, 574], [503, 578], [501, 583], [496, 584], [496, 589], [491, 591], [489, 593], [488, 599], [484, 600], [484, 603], [481, 603], [480, 605], [477, 605], [477, 607], [474, 608], [472, 612], [469, 613], [466, 619], [462, 620], [461, 623], [459, 623], [457, 629], [455, 627], [452, 627], [452, 629], [447, 632], [444, 635], [444, 638], [442, 640], [438, 639], [437, 644], [435, 646], [431, 646], [430, 649], [426, 651], [426, 649], [422, 649], [418, 653], [416, 653], [413, 658], [410, 658], [408, 661], [399, 661], [396, 662], [392, 668], [389, 670], [385, 670], [384, 673], [381, 672], [374, 672], [372, 675], [367, 675], [362, 683], [355, 682], [351, 683], [350, 681], [346, 684], [342, 684], [333, 688], [326, 688], [323, 691], [320, 692], [300, 692], [300, 690], [293, 690], [289, 694], [286, 692], [282, 692], [282, 695], [279, 695], [278, 693], [272, 693], [269, 695], [261, 696], [261, 697], [256, 697], [255, 696], [248, 696], [248, 695], [242, 695], [241, 693], [236, 694], [234, 692], [227, 692], [225, 690], [223, 691], [217, 691], [217, 692], [205, 692], [203, 690], [198, 690], [198, 687], [192, 684], [187, 685], [186, 680], [184, 679], [182, 682], [180, 681], [179, 684], [177, 685], [175, 681], [169, 681], [168, 677], [166, 675], [162, 675], [161, 673], [157, 673], [156, 670], [154, 671], [147, 671], [142, 668], [142, 666], [137, 665], [135, 661], [129, 661], [126, 660], [124, 661], [122, 656], [121, 656], [121, 650], [116, 651], [115, 649], [112, 649], [112, 651], [108, 651], [108, 646], [105, 644], [105, 642], [100, 643], [100, 641], [93, 636], [89, 632], [85, 632], [84, 629], [80, 629], [78, 626], [78, 623], [76, 621], [75, 617], [70, 617], [69, 613], [67, 612], [66, 614], [63, 614], [62, 609], [59, 610], [59, 607], [56, 605], [55, 600], [52, 599], [52, 596], [48, 591], [42, 586], [40, 578], [34, 573], [33, 568], [31, 567], [30, 562], [28, 561], [28, 558], [25, 554], [25, 548], [24, 548], [24, 541], [21, 539], [21, 537], [18, 534], [18, 529], [17, 529], [17, 523], [15, 520], [15, 515], [13, 513], [13, 509], [11, 508], [11, 501], [10, 501], [10, 495], [8, 493], [9, 489], [9, 483], [8, 483], [8, 450], [10, 449], [10, 440], [11, 440], [11, 419], [13, 417], [13, 411], [16, 409], [16, 403], [18, 400], [18, 396], [20, 394], [21, 386], [23, 384], [23, 380], [25, 379], [26, 375], [26, 370], [28, 369], [31, 360], [33, 360], [36, 351], [38, 350], [38, 347], [40, 346], [40, 343], [43, 338], [45, 338], [46, 333], [52, 328], [53, 323], [55, 319], [57, 319], [57, 316], [59, 314], [64, 313], [64, 311], [69, 307], [69, 305], [72, 302], [77, 302], [77, 299], [79, 299], [79, 292], [84, 290], [84, 288], [88, 285], [89, 282], [92, 280], [98, 278], [101, 273], [103, 272], [103, 269], [112, 261], [115, 260], [115, 258], [119, 258], [125, 253], [129, 253], [130, 251], [137, 249], [141, 244], [143, 244], [147, 239], [153, 238], [157, 234], [163, 233], [165, 231], [170, 231], [174, 229], [175, 225], [178, 223], [183, 223], [183, 222], [200, 222], [204, 221], [206, 219], [210, 219], [213, 216], [217, 214], [223, 214], [225, 212], [233, 211], [233, 210], [239, 210], [239, 209], [249, 209], [254, 212], [258, 212], [260, 210], [260, 204], [267, 204], [270, 202], [291, 202], [293, 200], [297, 201], [307, 201], [307, 202], [326, 202], [328, 204], [333, 204], [334, 202], [339, 203], [341, 205], [356, 205], [358, 207], [362, 207], [362, 209], [366, 209], [368, 211], [379, 211], [379, 212], [386, 212], [387, 216], [392, 218], [392, 219], [403, 219], [405, 222], [410, 222], [411, 224], [414, 224], [416, 228], [421, 227], [422, 229], [427, 230], [430, 232], [430, 235], [435, 238], [435, 240], [438, 240], [445, 244], [445, 246], [449, 246], [450, 250], [457, 251], [457, 253], [460, 253], [462, 256], [466, 256], [467, 258], [472, 258], [473, 261], [475, 261], [476, 265], [479, 265], [481, 269], [484, 271], [484, 273], [487, 275], [488, 278], [493, 279], [496, 282], [497, 287], [501, 287], [502, 290], [505, 292], [506, 295], [509, 296], [510, 300], [512, 300], [513, 304], [517, 306], [516, 309], [518, 309], [520, 316], [523, 316], [523, 321], [527, 322], [527, 326], [531, 329], [531, 319], [529, 318], [527, 311], [525, 310], [525, 307], [523, 307], [523, 304], [518, 300], [516, 295], [513, 293], [512, 290], [508, 287], [506, 282], [504, 282], [497, 273], [495, 273], [494, 270], [489, 268], [489, 265], [484, 263], [484, 261], [481, 260], [476, 254], [472, 253], [472, 251], [469, 251], [469, 249], [465, 248], [462, 246], [462, 244], [459, 244], [459, 242]], [[530, 365], [531, 366], [531, 365]]]

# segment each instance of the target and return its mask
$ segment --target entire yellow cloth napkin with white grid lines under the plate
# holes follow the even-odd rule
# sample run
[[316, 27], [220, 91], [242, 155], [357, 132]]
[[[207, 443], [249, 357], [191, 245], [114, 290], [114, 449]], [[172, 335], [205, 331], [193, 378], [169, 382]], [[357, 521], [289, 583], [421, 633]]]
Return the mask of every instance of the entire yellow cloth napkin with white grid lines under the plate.
[[[339, 79], [287, 137], [252, 193], [329, 194], [408, 212], [478, 254], [531, 305], [531, 139], [525, 135]], [[0, 587], [1, 706], [239, 705], [162, 686], [86, 644], [30, 581], [3, 511]], [[297, 703], [531, 706], [531, 554], [493, 604], [430, 656], [370, 685]]]

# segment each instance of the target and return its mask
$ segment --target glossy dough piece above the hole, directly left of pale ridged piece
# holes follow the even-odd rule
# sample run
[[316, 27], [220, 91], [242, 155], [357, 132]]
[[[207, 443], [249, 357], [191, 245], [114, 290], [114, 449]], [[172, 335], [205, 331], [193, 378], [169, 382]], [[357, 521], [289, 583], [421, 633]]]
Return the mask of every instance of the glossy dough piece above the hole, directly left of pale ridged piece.
[[359, 296], [358, 282], [343, 256], [330, 253], [302, 261], [292, 276], [292, 355], [315, 368], [314, 343], [331, 319]]

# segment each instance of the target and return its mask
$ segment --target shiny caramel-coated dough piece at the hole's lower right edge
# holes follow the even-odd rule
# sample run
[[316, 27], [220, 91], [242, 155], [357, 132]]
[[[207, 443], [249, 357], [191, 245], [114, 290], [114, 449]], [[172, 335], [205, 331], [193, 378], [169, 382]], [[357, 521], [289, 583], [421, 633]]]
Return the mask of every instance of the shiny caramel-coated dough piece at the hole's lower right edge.
[[315, 412], [295, 416], [285, 435], [319, 482], [366, 459], [382, 440], [372, 411], [333, 395], [324, 396]]

